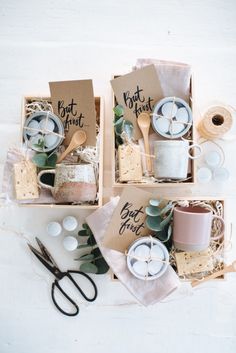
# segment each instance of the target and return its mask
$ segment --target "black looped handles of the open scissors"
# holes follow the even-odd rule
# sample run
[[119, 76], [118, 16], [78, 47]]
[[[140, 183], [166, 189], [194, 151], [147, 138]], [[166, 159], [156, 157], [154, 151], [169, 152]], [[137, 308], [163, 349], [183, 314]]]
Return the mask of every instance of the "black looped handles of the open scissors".
[[[71, 273], [77, 273], [83, 277], [86, 277], [90, 283], [92, 284], [93, 288], [94, 288], [94, 296], [92, 298], [87, 297], [87, 295], [84, 293], [84, 291], [80, 288], [80, 286], [76, 283], [76, 281], [74, 280], [74, 278], [71, 276]], [[93, 302], [96, 298], [97, 298], [97, 286], [94, 283], [94, 281], [92, 280], [91, 277], [89, 277], [89, 275], [87, 275], [84, 272], [81, 271], [67, 271], [62, 273], [62, 278], [67, 277], [69, 278], [69, 280], [74, 284], [74, 286], [77, 288], [77, 290], [80, 292], [80, 294], [84, 297], [84, 299], [86, 299], [89, 302]], [[55, 287], [57, 287], [59, 289], [59, 291], [63, 294], [63, 296], [72, 304], [72, 306], [75, 308], [75, 311], [72, 313], [66, 312], [64, 311], [57, 303], [56, 298], [55, 298]], [[61, 288], [59, 281], [56, 279], [53, 284], [52, 284], [52, 290], [51, 290], [51, 296], [52, 296], [52, 301], [54, 303], [54, 305], [56, 306], [56, 308], [64, 315], [67, 316], [76, 316], [79, 313], [79, 307], [78, 305], [69, 297], [69, 295]]]

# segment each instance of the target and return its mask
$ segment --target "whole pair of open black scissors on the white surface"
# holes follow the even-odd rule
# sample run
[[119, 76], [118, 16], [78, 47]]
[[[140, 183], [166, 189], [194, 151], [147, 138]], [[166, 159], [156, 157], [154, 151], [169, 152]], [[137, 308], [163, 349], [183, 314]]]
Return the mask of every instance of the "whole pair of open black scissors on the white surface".
[[[80, 294], [84, 297], [84, 299], [86, 299], [88, 302], [93, 302], [96, 298], [97, 298], [97, 286], [94, 283], [94, 281], [92, 280], [92, 278], [90, 278], [86, 273], [81, 272], [81, 271], [73, 271], [73, 270], [68, 270], [66, 272], [61, 272], [56, 264], [56, 262], [54, 261], [52, 255], [49, 253], [49, 251], [46, 249], [46, 247], [42, 244], [42, 242], [36, 237], [35, 238], [38, 246], [41, 250], [38, 251], [37, 249], [35, 249], [32, 245], [28, 244], [30, 250], [33, 252], [33, 254], [39, 259], [39, 261], [56, 277], [55, 281], [52, 283], [52, 289], [51, 289], [51, 296], [52, 296], [52, 300], [53, 303], [55, 304], [56, 308], [64, 315], [67, 316], [76, 316], [79, 313], [79, 307], [78, 305], [69, 297], [69, 295], [61, 288], [59, 281], [64, 278], [67, 277], [72, 283], [73, 285], [77, 288], [77, 290], [80, 292]], [[87, 295], [84, 293], [84, 291], [80, 288], [80, 286], [76, 283], [76, 281], [74, 280], [74, 278], [71, 276], [72, 273], [77, 273], [81, 276], [84, 276], [85, 278], [88, 279], [88, 281], [92, 284], [93, 288], [94, 288], [94, 296], [92, 298], [88, 298]], [[62, 295], [72, 304], [72, 306], [75, 308], [75, 311], [72, 313], [68, 313], [66, 311], [64, 311], [56, 302], [55, 299], [55, 287], [57, 287], [59, 289], [59, 291], [62, 293]]]

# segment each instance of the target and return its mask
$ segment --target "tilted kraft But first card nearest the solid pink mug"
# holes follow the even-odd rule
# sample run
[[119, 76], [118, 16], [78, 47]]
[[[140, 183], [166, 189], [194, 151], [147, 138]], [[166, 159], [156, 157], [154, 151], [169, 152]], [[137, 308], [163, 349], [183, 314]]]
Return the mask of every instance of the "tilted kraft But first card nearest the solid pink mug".
[[151, 231], [145, 226], [145, 207], [152, 194], [135, 187], [123, 191], [106, 230], [103, 245], [125, 253], [131, 243]]

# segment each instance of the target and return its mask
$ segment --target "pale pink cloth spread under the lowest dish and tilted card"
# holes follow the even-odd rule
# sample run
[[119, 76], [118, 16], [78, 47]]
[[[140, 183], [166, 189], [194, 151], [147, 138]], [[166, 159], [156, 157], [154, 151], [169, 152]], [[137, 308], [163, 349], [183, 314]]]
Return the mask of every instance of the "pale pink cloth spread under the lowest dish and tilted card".
[[119, 251], [105, 248], [102, 245], [106, 228], [119, 202], [119, 196], [86, 218], [97, 244], [108, 265], [128, 291], [143, 305], [155, 304], [172, 293], [180, 284], [179, 278], [171, 266], [160, 278], [143, 281], [134, 277], [126, 265], [126, 256]]

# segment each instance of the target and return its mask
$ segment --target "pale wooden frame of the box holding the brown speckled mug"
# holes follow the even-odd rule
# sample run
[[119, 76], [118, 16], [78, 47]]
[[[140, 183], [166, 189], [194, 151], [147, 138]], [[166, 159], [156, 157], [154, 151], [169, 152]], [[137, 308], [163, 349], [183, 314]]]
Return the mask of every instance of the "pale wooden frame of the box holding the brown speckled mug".
[[[26, 109], [25, 106], [32, 101], [37, 100], [47, 100], [51, 103], [51, 98], [48, 96], [24, 96], [22, 102], [22, 122], [21, 122], [21, 142], [23, 143], [23, 126], [26, 119]], [[68, 204], [40, 204], [40, 203], [20, 203], [21, 206], [33, 206], [33, 207], [56, 207], [56, 208], [78, 208], [78, 209], [88, 209], [93, 210], [102, 206], [103, 198], [103, 136], [104, 136], [104, 101], [102, 97], [95, 97], [95, 108], [97, 123], [100, 127], [100, 141], [99, 141], [99, 181], [98, 181], [98, 202], [94, 205], [82, 204], [82, 205], [68, 205]]]

